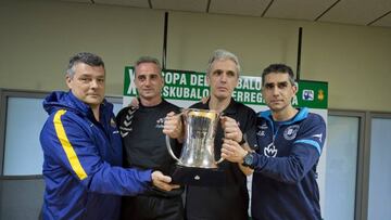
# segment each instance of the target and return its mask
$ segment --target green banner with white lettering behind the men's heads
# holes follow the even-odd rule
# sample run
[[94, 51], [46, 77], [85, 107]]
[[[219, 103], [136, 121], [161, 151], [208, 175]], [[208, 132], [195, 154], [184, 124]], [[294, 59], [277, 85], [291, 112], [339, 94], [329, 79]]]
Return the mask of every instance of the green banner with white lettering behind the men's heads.
[[[162, 91], [167, 100], [200, 101], [210, 93], [205, 73], [164, 69], [165, 86]], [[136, 96], [134, 67], [125, 67], [124, 95]], [[292, 104], [299, 107], [327, 108], [327, 82], [305, 81], [299, 83]], [[261, 77], [241, 76], [234, 91], [234, 99], [248, 105], [265, 105], [261, 93]]]

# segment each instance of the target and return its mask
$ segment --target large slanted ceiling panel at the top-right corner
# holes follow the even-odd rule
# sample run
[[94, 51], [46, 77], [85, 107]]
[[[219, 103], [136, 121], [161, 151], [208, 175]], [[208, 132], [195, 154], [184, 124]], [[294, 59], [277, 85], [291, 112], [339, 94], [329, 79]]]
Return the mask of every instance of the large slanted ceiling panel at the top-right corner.
[[321, 22], [367, 25], [391, 10], [391, 0], [341, 0]]

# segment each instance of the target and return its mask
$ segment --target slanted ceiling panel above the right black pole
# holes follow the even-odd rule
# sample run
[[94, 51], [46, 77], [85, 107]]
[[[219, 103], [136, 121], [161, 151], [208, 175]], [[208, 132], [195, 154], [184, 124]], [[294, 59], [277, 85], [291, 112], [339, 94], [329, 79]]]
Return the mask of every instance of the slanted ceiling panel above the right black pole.
[[336, 0], [276, 0], [264, 17], [315, 21]]

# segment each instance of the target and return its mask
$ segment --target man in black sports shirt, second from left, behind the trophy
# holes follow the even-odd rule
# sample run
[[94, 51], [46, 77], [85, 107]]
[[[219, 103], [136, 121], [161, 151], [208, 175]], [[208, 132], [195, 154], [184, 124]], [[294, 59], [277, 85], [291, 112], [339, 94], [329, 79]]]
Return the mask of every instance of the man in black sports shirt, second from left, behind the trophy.
[[[164, 79], [156, 59], [144, 56], [136, 62], [135, 85], [138, 107], [125, 107], [116, 117], [123, 138], [124, 166], [156, 169], [169, 176], [175, 161], [168, 155], [162, 130], [167, 113], [179, 113], [179, 107], [162, 99]], [[178, 155], [180, 145], [172, 143], [172, 146]], [[138, 196], [125, 196], [122, 219], [184, 219], [182, 192], [182, 187], [171, 192], [151, 189]]]

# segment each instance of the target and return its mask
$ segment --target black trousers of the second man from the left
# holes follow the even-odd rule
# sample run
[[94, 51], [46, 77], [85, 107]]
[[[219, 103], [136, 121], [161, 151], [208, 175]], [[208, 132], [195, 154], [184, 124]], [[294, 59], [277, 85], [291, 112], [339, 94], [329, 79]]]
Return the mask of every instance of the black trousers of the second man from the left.
[[162, 197], [151, 195], [124, 196], [122, 220], [182, 220], [181, 196]]

